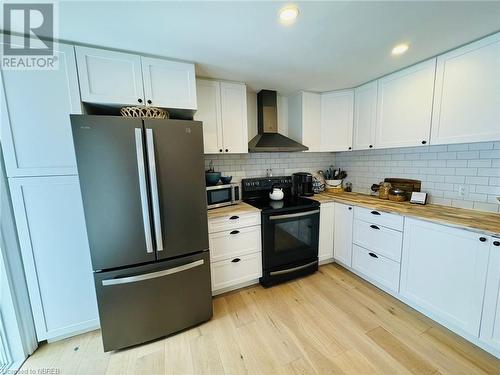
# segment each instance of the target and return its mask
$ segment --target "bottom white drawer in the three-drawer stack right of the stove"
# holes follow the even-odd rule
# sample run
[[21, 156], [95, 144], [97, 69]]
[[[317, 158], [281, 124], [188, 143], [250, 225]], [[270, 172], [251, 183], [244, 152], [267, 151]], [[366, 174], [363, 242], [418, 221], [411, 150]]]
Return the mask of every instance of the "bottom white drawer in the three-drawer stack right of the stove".
[[[394, 292], [399, 290], [399, 263], [353, 245], [352, 268]], [[371, 254], [371, 255], [370, 255]]]

